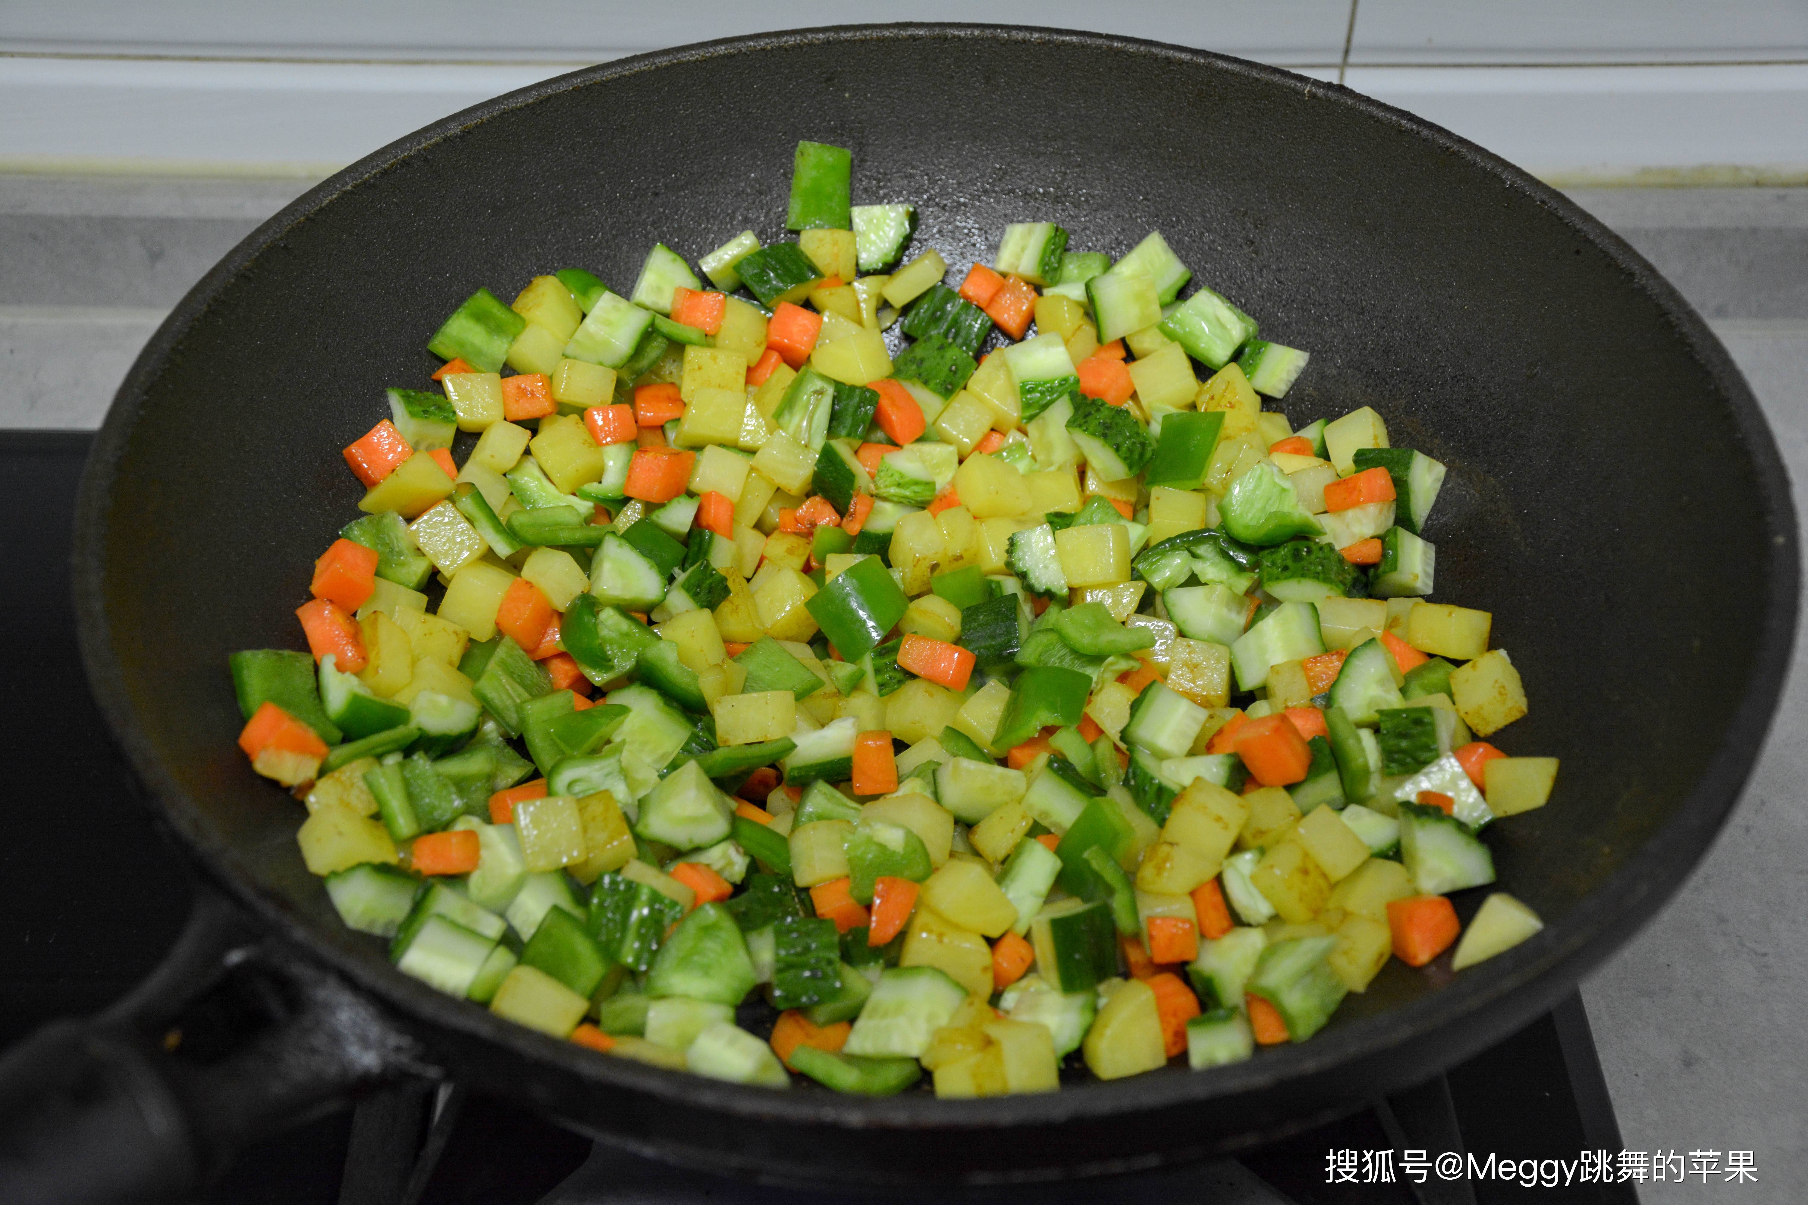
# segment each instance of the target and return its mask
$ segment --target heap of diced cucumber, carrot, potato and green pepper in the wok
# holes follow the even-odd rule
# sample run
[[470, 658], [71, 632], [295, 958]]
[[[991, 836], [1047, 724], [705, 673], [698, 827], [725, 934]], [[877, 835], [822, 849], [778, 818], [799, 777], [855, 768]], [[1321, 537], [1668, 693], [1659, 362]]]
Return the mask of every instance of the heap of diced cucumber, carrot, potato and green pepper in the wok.
[[709, 284], [479, 289], [345, 448], [309, 652], [231, 659], [344, 921], [613, 1057], [942, 1097], [1249, 1059], [1537, 932], [1450, 898], [1557, 761], [1428, 602], [1445, 466], [1264, 410], [1307, 354], [1159, 233], [1014, 222], [951, 287], [850, 168], [799, 145], [794, 237]]

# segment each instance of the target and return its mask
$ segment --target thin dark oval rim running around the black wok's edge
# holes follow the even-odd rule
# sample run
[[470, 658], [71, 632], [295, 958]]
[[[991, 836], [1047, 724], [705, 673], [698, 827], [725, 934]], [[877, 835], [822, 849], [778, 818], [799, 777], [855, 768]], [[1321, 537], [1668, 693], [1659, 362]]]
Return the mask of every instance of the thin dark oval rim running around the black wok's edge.
[[[1770, 535], [1768, 594], [1745, 697], [1730, 717], [1727, 741], [1716, 750], [1672, 818], [1616, 874], [1600, 883], [1562, 920], [1546, 925], [1535, 938], [1492, 959], [1486, 967], [1472, 968], [1450, 985], [1427, 992], [1408, 1004], [1378, 1017], [1325, 1030], [1298, 1046], [1267, 1050], [1260, 1059], [1217, 1068], [1210, 1075], [1170, 1070], [1164, 1075], [1088, 1082], [1063, 1088], [1059, 1093], [993, 1100], [937, 1100], [924, 1095], [862, 1098], [826, 1091], [774, 1093], [689, 1073], [664, 1071], [627, 1059], [595, 1059], [589, 1051], [570, 1042], [535, 1033], [506, 1023], [485, 1008], [441, 995], [394, 970], [387, 961], [342, 950], [316, 938], [313, 923], [297, 914], [277, 892], [259, 883], [257, 871], [244, 864], [231, 844], [213, 831], [201, 809], [165, 771], [152, 743], [139, 730], [125, 703], [125, 674], [112, 654], [101, 558], [112, 506], [110, 486], [165, 360], [197, 323], [206, 322], [208, 311], [230, 291], [237, 276], [253, 266], [259, 255], [278, 244], [286, 231], [307, 220], [322, 206], [354, 191], [403, 159], [483, 121], [573, 89], [607, 85], [613, 79], [667, 65], [729, 54], [839, 42], [926, 38], [1005, 45], [1059, 43], [1184, 63], [1204, 72], [1242, 76], [1266, 87], [1343, 105], [1367, 119], [1421, 137], [1459, 159], [1464, 168], [1479, 170], [1531, 204], [1549, 210], [1602, 251], [1633, 287], [1660, 307], [1676, 336], [1685, 343], [1689, 356], [1719, 387], [1732, 412], [1736, 435], [1752, 462], [1754, 484]], [[358, 985], [360, 990], [392, 1008], [405, 1019], [405, 1024], [423, 1021], [466, 1039], [494, 1042], [533, 1062], [553, 1064], [566, 1073], [579, 1075], [597, 1088], [647, 1093], [667, 1102], [700, 1106], [749, 1120], [843, 1129], [1023, 1127], [1159, 1111], [1186, 1102], [1266, 1093], [1289, 1080], [1327, 1075], [1345, 1064], [1374, 1064], [1378, 1059], [1385, 1062], [1387, 1051], [1407, 1044], [1437, 1041], [1445, 1050], [1455, 1051], [1455, 1059], [1461, 1059], [1497, 1039], [1497, 1032], [1492, 1032], [1490, 1026], [1475, 1026], [1475, 1030], [1490, 1030], [1484, 1033], [1461, 1032], [1464, 1021], [1484, 1012], [1510, 1017], [1513, 1028], [1524, 1024], [1649, 921], [1707, 855], [1712, 838], [1725, 824], [1756, 766], [1775, 714], [1794, 647], [1799, 571], [1797, 522], [1788, 473], [1775, 437], [1730, 354], [1674, 285], [1663, 280], [1618, 235], [1555, 188], [1441, 126], [1342, 85], [1211, 51], [1141, 38], [985, 23], [833, 25], [721, 38], [636, 54], [488, 99], [365, 155], [262, 222], [184, 294], [139, 352], [107, 412], [83, 472], [72, 555], [81, 659], [114, 741], [130, 762], [137, 782], [154, 799], [159, 817], [177, 833], [184, 853], [280, 938], [306, 948], [336, 974]], [[1372, 1088], [1369, 1086], [1370, 1091]]]

